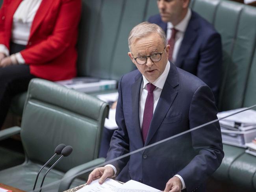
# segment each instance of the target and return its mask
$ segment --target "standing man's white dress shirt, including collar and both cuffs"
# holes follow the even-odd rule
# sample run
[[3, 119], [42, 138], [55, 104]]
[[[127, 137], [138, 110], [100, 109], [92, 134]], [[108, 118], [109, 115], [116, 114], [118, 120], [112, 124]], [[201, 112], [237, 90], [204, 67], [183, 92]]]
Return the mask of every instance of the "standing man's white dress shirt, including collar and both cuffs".
[[[155, 112], [156, 109], [156, 105], [159, 101], [161, 92], [163, 90], [163, 86], [165, 84], [166, 78], [169, 74], [169, 70], [170, 70], [170, 62], [168, 61], [166, 66], [165, 66], [165, 70], [163, 71], [163, 73], [160, 75], [160, 77], [158, 79], [156, 79], [156, 81], [154, 81], [152, 84], [156, 86], [156, 89], [154, 89], [153, 91], [153, 95], [154, 95], [154, 108], [153, 108], [153, 114]], [[145, 76], [142, 76], [143, 78], [143, 83], [141, 83], [141, 91], [140, 91], [140, 99], [139, 99], [139, 122], [140, 122], [140, 127], [142, 126], [142, 120], [143, 120], [143, 114], [144, 114], [144, 108], [145, 108], [145, 102], [146, 102], [146, 98], [148, 95], [148, 91], [147, 91], [147, 83], [149, 83], [149, 81], [145, 78]], [[111, 165], [111, 164], [107, 164], [106, 166], [110, 166], [113, 168], [115, 175], [117, 174], [117, 169], [115, 168], [115, 166]], [[181, 182], [182, 182], [182, 189], [186, 188], [185, 182], [183, 180], [183, 178], [180, 175], [174, 175], [176, 177], [179, 177]]]

